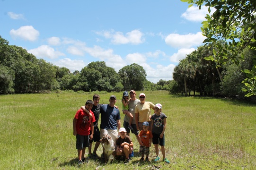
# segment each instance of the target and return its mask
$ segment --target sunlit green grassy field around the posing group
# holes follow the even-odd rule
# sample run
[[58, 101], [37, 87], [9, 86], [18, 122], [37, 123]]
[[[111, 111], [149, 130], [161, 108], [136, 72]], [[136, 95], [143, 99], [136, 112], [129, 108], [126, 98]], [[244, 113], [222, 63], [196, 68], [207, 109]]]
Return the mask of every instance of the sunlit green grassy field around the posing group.
[[[144, 93], [146, 101], [161, 103], [168, 117], [165, 144], [170, 164], [140, 163], [139, 144], [132, 134], [134, 157], [128, 165], [90, 160], [78, 168], [72, 119], [94, 93], [61, 92], [0, 95], [0, 170], [256, 169], [256, 104], [167, 91]], [[98, 94], [100, 103], [116, 95], [116, 105], [122, 108], [122, 92]], [[122, 126], [123, 119], [121, 114]], [[150, 160], [154, 156], [152, 146]]]

